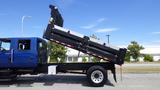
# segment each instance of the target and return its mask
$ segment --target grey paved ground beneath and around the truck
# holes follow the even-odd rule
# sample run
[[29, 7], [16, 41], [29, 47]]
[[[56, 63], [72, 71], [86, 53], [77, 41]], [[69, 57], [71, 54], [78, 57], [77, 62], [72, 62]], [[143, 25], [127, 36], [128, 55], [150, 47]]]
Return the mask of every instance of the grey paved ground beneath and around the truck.
[[90, 87], [85, 75], [59, 74], [20, 76], [16, 82], [1, 82], [0, 90], [158, 90], [160, 74], [124, 74], [122, 80], [117, 76], [115, 83], [109, 75], [104, 87]]

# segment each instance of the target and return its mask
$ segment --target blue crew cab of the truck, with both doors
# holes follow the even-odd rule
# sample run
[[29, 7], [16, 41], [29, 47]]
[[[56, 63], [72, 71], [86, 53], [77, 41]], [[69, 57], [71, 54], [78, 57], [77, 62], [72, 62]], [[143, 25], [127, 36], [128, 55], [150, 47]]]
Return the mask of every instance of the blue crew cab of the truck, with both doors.
[[0, 69], [34, 69], [47, 63], [47, 44], [41, 38], [0, 38]]

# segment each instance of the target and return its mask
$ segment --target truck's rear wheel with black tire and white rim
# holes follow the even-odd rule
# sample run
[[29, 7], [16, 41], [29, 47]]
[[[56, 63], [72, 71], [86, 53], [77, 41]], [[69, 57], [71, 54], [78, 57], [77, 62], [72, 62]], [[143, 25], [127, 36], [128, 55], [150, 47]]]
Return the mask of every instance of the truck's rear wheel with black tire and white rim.
[[107, 81], [107, 71], [101, 66], [92, 66], [87, 70], [87, 79], [91, 86], [102, 87]]

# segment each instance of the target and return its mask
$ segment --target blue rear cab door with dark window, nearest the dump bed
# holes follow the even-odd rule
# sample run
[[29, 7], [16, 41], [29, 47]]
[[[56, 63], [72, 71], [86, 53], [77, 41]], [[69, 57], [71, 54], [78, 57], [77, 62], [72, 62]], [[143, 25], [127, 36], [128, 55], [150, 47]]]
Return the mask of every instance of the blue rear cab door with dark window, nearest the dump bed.
[[18, 39], [14, 52], [13, 67], [32, 68], [36, 66], [36, 53], [31, 39]]

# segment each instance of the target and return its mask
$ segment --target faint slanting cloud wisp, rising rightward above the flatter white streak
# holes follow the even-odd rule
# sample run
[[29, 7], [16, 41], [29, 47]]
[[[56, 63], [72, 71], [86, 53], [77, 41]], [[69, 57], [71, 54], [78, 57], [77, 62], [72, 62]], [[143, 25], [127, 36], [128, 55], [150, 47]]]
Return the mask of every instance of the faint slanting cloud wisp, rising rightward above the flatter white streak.
[[86, 25], [86, 26], [82, 26], [83, 29], [92, 29], [96, 26], [98, 26], [100, 23], [104, 22], [106, 20], [106, 18], [99, 18], [96, 20], [95, 23], [92, 23], [92, 24], [89, 24], [89, 25]]

